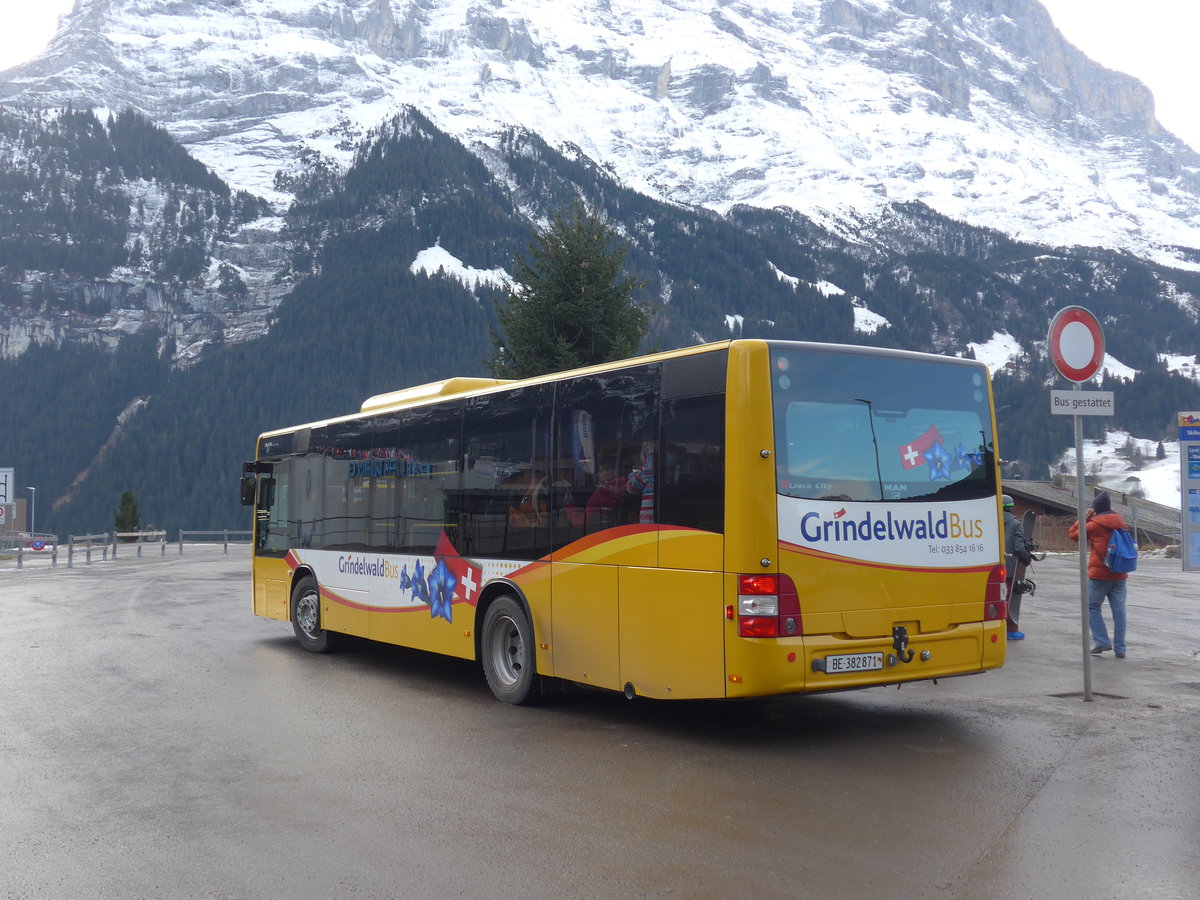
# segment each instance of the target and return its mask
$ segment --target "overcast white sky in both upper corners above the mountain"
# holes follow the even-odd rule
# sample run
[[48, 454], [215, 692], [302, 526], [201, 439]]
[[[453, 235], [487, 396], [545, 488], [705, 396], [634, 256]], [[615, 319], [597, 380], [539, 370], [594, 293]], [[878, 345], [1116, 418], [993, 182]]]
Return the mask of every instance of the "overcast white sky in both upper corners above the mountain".
[[[0, 70], [46, 47], [72, 0], [0, 0]], [[1043, 0], [1067, 40], [1154, 92], [1158, 119], [1200, 149], [1195, 0]]]

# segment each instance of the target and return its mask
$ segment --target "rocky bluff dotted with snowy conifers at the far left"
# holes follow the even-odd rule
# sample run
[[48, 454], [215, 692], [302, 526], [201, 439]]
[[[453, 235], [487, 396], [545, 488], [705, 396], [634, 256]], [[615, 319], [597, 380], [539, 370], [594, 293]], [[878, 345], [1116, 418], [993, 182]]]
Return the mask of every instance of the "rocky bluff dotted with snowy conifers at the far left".
[[186, 364], [266, 329], [281, 220], [132, 114], [0, 110], [0, 359], [151, 331]]

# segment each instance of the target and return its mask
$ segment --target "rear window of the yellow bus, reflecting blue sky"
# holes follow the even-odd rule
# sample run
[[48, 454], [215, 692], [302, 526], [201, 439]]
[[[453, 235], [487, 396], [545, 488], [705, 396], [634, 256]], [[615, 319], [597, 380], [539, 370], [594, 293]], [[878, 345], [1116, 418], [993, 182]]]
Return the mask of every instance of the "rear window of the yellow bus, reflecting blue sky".
[[898, 502], [995, 494], [985, 370], [772, 347], [779, 492]]

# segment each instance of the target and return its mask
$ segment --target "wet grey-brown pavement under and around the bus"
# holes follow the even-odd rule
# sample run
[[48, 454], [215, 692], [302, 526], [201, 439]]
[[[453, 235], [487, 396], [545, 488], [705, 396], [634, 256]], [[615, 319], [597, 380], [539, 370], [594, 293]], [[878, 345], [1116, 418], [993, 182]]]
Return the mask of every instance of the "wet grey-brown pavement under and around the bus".
[[997, 672], [496, 702], [250, 613], [245, 548], [0, 563], [4, 898], [1200, 896], [1200, 580], [1145, 559], [1084, 702], [1078, 563]]

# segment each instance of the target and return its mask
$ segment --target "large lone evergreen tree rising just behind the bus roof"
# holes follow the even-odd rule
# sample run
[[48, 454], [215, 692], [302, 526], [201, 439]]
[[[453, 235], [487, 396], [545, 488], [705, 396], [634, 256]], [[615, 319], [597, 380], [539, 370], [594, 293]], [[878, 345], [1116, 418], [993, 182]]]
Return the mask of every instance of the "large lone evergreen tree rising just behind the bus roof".
[[528, 378], [632, 356], [650, 311], [634, 300], [644, 282], [620, 276], [626, 252], [596, 210], [576, 203], [558, 212], [497, 304], [492, 373]]

